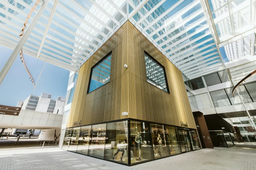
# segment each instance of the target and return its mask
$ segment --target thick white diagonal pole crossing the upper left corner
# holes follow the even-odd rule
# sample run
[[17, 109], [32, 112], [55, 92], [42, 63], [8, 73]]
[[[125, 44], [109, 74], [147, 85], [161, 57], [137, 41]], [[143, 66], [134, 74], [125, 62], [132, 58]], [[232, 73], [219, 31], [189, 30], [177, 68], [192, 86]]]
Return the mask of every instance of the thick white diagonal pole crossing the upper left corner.
[[33, 20], [31, 21], [30, 25], [28, 26], [28, 28], [25, 30], [25, 33], [23, 34], [23, 36], [21, 37], [19, 43], [17, 44], [17, 46], [15, 47], [15, 49], [13, 50], [13, 52], [11, 53], [11, 56], [9, 57], [8, 61], [6, 62], [6, 64], [4, 65], [3, 69], [0, 72], [0, 85], [2, 84], [5, 76], [7, 75], [9, 69], [11, 68], [11, 65], [14, 63], [16, 57], [19, 55], [20, 50], [22, 49], [23, 45], [25, 44], [28, 36], [30, 35], [30, 33], [32, 32], [33, 28], [35, 27], [38, 19], [40, 18], [40, 16], [43, 13], [44, 8], [47, 6], [49, 0], [44, 0], [42, 6], [40, 7], [40, 9], [38, 10], [38, 12], [36, 13], [35, 17], [33, 18]]

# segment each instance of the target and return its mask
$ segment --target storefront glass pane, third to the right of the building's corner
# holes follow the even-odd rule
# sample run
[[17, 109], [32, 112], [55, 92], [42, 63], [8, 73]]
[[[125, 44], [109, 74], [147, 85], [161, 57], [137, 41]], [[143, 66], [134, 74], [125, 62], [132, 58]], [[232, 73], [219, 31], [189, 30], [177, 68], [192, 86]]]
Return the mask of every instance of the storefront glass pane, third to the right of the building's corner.
[[170, 149], [170, 155], [181, 153], [177, 128], [166, 126], [167, 141]]

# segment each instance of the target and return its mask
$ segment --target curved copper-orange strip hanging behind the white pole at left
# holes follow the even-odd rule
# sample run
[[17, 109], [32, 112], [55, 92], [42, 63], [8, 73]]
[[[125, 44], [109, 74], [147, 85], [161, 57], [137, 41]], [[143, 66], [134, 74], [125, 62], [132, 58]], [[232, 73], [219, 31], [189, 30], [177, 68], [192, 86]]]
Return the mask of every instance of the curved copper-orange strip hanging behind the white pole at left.
[[[29, 18], [30, 18], [30, 16], [31, 16], [32, 12], [33, 12], [34, 9], [36, 8], [36, 6], [40, 3], [40, 1], [41, 1], [41, 0], [38, 0], [38, 1], [35, 3], [34, 7], [32, 7], [32, 9], [30, 10], [30, 12], [29, 12], [29, 14], [28, 14], [28, 16], [27, 16], [27, 18], [26, 18], [26, 21], [24, 22], [23, 28], [22, 28], [22, 30], [21, 30], [20, 39], [21, 39], [21, 37], [22, 37], [22, 35], [23, 35], [24, 31], [25, 31], [25, 27], [26, 27], [27, 21], [29, 20]], [[27, 71], [27, 74], [28, 74], [28, 75], [30, 76], [30, 78], [31, 78], [30, 81], [32, 81], [32, 83], [33, 83], [33, 85], [34, 85], [34, 90], [35, 90], [35, 88], [36, 88], [36, 86], [35, 86], [35, 81], [34, 81], [34, 78], [32, 77], [32, 74], [29, 72], [29, 70], [28, 70], [28, 68], [27, 68], [27, 65], [26, 65], [26, 62], [25, 62], [25, 59], [24, 59], [24, 56], [23, 56], [23, 50], [22, 50], [22, 49], [21, 49], [21, 51], [20, 51], [20, 55], [21, 55], [21, 58], [20, 58], [20, 59], [21, 59], [23, 65], [24, 65], [24, 67], [25, 67], [25, 69], [26, 69], [26, 71]], [[29, 79], [30, 79], [30, 78], [29, 78]]]

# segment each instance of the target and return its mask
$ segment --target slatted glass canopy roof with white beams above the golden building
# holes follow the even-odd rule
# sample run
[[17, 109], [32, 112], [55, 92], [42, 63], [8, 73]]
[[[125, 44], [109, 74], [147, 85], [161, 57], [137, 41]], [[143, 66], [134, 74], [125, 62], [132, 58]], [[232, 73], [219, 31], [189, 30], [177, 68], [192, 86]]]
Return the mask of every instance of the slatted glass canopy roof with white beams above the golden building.
[[[245, 27], [250, 29], [255, 19], [249, 0], [206, 2], [207, 7], [200, 0], [50, 0], [23, 51], [76, 71], [129, 20], [184, 75], [197, 78], [224, 69], [216, 44], [236, 36]], [[0, 44], [16, 47], [35, 3], [36, 0], [0, 2]], [[27, 26], [42, 3], [35, 8]], [[212, 20], [206, 17], [206, 9], [211, 11], [208, 14]], [[217, 31], [212, 31], [211, 24]]]

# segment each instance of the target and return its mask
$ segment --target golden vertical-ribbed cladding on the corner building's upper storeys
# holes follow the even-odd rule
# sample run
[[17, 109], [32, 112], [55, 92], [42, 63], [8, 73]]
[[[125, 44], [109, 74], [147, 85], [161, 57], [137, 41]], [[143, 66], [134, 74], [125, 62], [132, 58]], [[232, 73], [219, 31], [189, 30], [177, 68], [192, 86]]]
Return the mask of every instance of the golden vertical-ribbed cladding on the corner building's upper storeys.
[[[111, 51], [110, 82], [87, 94], [91, 68]], [[144, 51], [165, 67], [170, 94], [146, 81]], [[181, 72], [129, 21], [81, 66], [67, 127], [125, 118], [196, 128]]]

